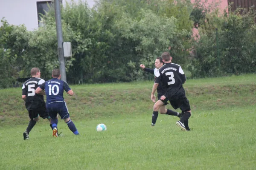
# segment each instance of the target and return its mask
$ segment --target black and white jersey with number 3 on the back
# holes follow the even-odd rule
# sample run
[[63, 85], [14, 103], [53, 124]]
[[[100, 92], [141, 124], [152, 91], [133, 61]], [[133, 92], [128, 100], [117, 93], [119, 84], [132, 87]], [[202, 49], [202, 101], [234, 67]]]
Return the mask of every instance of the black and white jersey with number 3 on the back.
[[169, 97], [184, 91], [182, 84], [186, 81], [186, 76], [180, 65], [166, 63], [158, 70], [156, 77], [156, 83], [162, 83]]

